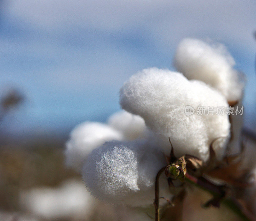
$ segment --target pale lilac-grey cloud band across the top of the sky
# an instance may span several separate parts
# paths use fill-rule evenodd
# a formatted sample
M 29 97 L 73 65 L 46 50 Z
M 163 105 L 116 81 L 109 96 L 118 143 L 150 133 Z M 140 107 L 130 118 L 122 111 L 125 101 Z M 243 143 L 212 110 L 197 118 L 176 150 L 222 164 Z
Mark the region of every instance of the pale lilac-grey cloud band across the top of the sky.
M 138 29 L 169 46 L 183 37 L 209 36 L 250 49 L 255 11 L 256 5 L 249 0 L 17 0 L 8 4 L 5 14 L 46 30 L 74 26 L 110 32 Z

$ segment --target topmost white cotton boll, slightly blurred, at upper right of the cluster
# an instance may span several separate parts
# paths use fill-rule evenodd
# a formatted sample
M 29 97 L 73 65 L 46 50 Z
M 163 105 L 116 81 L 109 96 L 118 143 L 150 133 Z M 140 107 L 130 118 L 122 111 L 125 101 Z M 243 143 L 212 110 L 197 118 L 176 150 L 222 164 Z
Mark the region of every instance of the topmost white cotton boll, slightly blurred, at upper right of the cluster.
M 190 38 L 180 42 L 174 57 L 177 71 L 188 79 L 201 80 L 218 89 L 228 101 L 243 96 L 244 80 L 234 65 L 233 57 L 223 45 Z

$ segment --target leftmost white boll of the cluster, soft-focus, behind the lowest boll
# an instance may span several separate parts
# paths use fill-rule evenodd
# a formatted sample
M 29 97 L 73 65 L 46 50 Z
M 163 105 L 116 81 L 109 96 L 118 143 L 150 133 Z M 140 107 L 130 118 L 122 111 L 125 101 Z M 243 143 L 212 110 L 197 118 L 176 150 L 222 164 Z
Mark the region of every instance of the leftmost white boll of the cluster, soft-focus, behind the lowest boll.
M 122 140 L 121 132 L 98 122 L 84 122 L 75 127 L 66 143 L 66 165 L 80 172 L 83 160 L 106 141 Z

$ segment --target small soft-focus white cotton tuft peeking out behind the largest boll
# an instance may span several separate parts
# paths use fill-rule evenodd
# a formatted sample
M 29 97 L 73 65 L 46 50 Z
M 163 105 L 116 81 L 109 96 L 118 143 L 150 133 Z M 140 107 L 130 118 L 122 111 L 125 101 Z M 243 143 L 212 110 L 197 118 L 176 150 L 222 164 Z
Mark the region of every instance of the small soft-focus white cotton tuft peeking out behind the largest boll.
M 111 115 L 108 118 L 108 125 L 122 132 L 125 140 L 146 138 L 148 135 L 144 119 L 125 110 Z

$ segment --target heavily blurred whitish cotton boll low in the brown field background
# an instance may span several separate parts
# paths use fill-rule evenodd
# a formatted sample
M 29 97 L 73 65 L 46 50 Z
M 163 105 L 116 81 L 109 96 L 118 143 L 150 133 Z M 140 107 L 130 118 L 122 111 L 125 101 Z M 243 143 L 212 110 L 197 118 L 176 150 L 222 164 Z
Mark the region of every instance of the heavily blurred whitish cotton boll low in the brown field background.
M 57 188 L 34 188 L 20 194 L 20 204 L 24 209 L 48 220 L 79 213 L 89 216 L 94 203 L 84 183 L 76 180 L 68 180 Z

